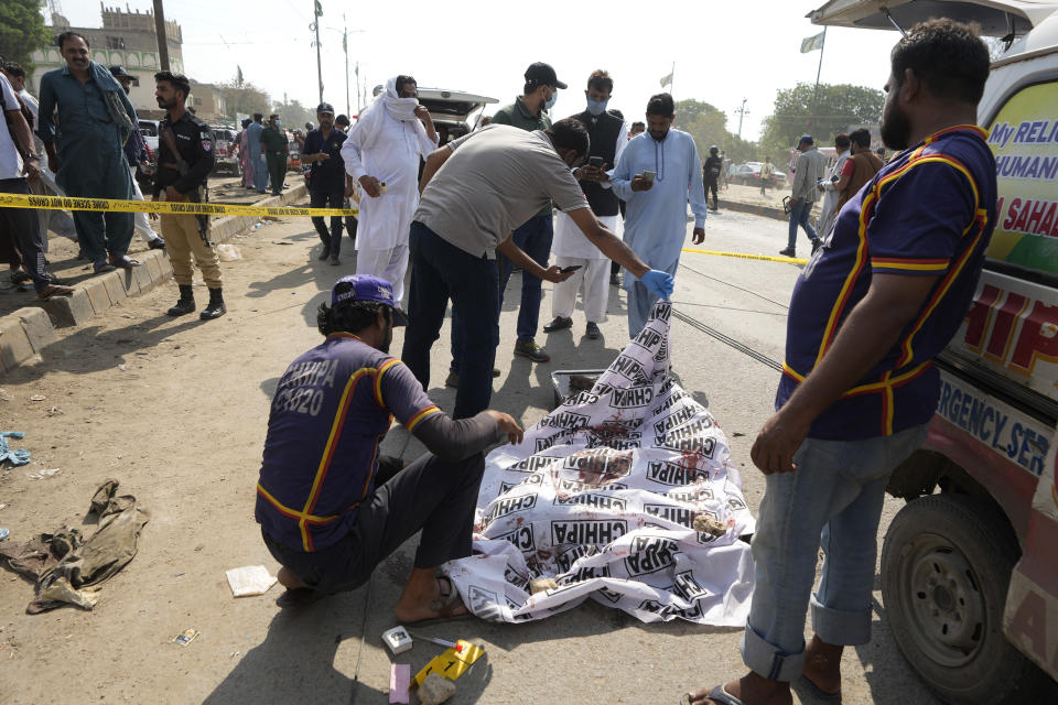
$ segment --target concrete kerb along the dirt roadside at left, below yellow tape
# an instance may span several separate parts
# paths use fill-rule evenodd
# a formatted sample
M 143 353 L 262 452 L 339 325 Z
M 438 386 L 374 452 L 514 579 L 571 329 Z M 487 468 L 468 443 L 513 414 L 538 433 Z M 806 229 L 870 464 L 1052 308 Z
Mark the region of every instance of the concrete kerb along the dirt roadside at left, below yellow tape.
M 282 196 L 263 198 L 255 206 L 284 206 L 302 200 L 304 184 Z M 256 216 L 228 216 L 213 221 L 210 240 L 226 242 L 253 227 Z M 110 272 L 77 285 L 73 296 L 55 297 L 34 306 L 24 306 L 0 318 L 0 371 L 13 370 L 58 339 L 56 328 L 80 326 L 129 296 L 147 293 L 173 275 L 173 265 L 162 250 L 137 254 L 141 265 L 132 271 Z

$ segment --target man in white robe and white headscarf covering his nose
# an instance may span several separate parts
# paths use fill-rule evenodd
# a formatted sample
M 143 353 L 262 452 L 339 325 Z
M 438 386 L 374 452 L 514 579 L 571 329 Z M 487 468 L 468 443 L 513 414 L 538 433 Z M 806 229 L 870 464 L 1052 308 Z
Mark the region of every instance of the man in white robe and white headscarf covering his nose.
M 438 132 L 411 76 L 397 76 L 360 116 L 342 145 L 348 174 L 364 187 L 356 237 L 356 273 L 393 285 L 404 297 L 408 232 L 419 205 L 419 161 L 438 148 Z

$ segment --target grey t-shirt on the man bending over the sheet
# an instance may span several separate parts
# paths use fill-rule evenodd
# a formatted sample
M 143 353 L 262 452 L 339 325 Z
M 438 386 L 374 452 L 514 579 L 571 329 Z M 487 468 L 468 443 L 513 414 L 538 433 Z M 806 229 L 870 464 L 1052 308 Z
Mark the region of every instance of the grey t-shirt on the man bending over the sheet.
M 427 185 L 414 219 L 474 257 L 496 246 L 553 200 L 587 208 L 584 192 L 542 131 L 489 124 L 447 144 L 452 156 Z

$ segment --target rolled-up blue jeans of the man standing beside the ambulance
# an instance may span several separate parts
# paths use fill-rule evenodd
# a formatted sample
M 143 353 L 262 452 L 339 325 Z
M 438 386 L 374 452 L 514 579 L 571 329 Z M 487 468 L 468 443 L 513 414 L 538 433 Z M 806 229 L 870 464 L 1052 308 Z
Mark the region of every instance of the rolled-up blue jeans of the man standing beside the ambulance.
M 893 470 L 926 440 L 926 426 L 866 441 L 807 438 L 797 470 L 768 475 L 753 536 L 756 587 L 742 638 L 754 672 L 796 681 L 805 668 L 805 611 L 831 644 L 871 640 L 878 521 Z M 819 549 L 822 579 L 816 582 Z

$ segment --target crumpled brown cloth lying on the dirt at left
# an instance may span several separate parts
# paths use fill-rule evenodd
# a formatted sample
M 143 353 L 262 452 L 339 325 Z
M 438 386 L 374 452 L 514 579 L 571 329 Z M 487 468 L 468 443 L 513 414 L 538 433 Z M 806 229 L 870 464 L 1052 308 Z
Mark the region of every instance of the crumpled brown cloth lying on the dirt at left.
M 65 604 L 91 609 L 96 598 L 84 588 L 109 579 L 136 556 L 149 517 L 132 495 L 115 497 L 117 489 L 118 480 L 108 479 L 93 495 L 89 513 L 99 516 L 99 527 L 87 540 L 80 530 L 64 525 L 22 544 L 0 545 L 9 568 L 36 581 L 36 597 L 25 611 L 35 615 Z

